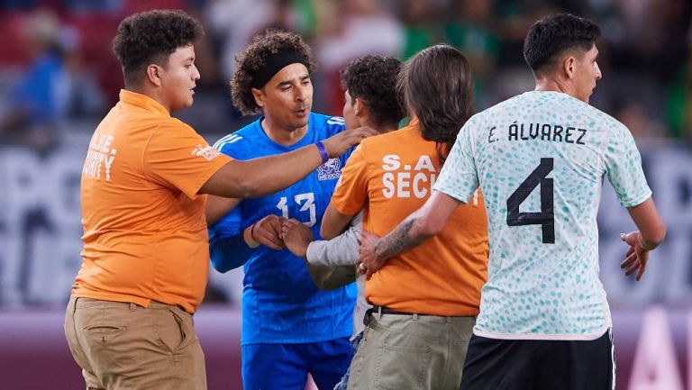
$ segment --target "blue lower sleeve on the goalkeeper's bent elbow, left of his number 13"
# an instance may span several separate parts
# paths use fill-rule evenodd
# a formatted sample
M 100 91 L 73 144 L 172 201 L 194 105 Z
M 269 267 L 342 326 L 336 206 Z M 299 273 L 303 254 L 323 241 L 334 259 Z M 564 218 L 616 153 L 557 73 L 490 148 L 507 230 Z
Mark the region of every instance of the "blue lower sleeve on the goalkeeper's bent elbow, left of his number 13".
M 241 267 L 250 259 L 254 249 L 242 238 L 243 230 L 240 205 L 209 228 L 209 256 L 217 271 Z

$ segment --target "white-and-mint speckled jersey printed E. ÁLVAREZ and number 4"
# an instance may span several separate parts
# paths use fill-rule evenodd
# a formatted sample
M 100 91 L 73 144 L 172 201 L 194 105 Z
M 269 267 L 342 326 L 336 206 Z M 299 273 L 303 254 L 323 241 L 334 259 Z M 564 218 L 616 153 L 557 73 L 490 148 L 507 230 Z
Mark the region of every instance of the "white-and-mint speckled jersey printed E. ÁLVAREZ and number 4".
M 632 134 L 569 95 L 527 92 L 474 115 L 434 189 L 480 186 L 490 258 L 475 333 L 594 340 L 611 326 L 596 213 L 607 177 L 624 207 L 651 196 Z

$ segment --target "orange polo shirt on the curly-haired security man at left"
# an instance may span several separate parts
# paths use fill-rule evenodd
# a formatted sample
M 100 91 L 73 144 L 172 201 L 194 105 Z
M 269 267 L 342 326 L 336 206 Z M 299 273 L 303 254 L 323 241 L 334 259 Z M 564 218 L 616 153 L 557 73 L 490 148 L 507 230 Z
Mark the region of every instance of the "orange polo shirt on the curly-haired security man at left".
M 72 294 L 195 313 L 209 264 L 209 177 L 230 159 L 146 95 L 120 92 L 81 178 L 84 250 Z

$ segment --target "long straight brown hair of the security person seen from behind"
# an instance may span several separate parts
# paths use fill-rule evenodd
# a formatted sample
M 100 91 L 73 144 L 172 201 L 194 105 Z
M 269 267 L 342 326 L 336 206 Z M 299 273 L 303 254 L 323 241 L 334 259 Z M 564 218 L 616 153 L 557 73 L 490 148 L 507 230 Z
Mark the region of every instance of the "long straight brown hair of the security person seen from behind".
M 420 122 L 424 140 L 437 142 L 441 162 L 461 127 L 473 115 L 473 80 L 469 60 L 450 45 L 423 49 L 399 73 L 406 108 Z

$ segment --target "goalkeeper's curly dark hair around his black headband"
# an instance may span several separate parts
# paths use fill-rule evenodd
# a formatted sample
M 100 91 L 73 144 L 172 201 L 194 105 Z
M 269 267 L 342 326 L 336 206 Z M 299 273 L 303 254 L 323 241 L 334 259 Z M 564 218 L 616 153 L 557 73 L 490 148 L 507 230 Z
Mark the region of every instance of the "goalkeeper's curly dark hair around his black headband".
M 254 38 L 245 50 L 235 57 L 238 68 L 231 78 L 231 97 L 233 105 L 244 115 L 261 113 L 261 107 L 252 95 L 252 81 L 259 68 L 264 67 L 270 55 L 279 50 L 291 50 L 302 54 L 308 73 L 314 71 L 312 51 L 300 35 L 269 29 Z

